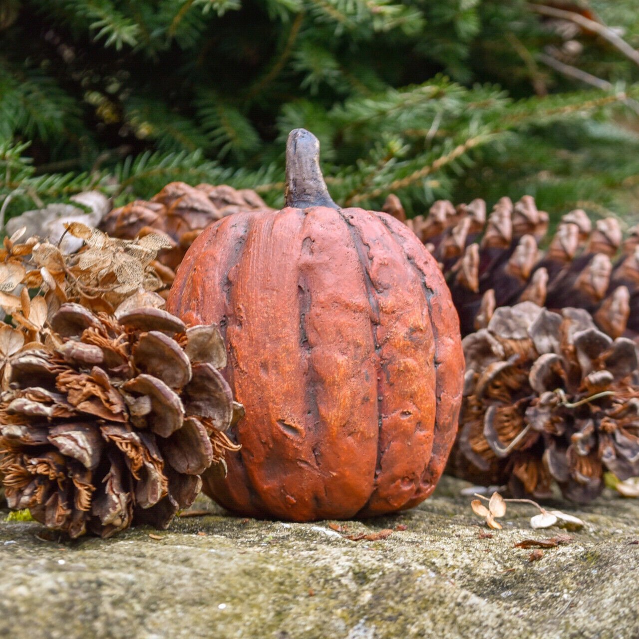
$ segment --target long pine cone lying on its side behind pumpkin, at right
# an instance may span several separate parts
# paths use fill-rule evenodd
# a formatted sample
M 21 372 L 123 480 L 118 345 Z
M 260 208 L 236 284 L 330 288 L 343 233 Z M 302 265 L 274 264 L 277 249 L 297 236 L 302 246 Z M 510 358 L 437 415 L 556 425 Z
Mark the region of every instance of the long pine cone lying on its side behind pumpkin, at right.
M 404 218 L 442 266 L 462 335 L 486 327 L 496 308 L 527 300 L 585 309 L 612 337 L 639 335 L 639 227 L 622 243 L 616 219 L 593 227 L 577 209 L 548 239 L 548 213 L 530 196 L 514 204 L 502 197 L 488 219 L 481 199 L 457 207 L 438 201 L 427 215 L 406 220 L 389 196 L 384 210 Z

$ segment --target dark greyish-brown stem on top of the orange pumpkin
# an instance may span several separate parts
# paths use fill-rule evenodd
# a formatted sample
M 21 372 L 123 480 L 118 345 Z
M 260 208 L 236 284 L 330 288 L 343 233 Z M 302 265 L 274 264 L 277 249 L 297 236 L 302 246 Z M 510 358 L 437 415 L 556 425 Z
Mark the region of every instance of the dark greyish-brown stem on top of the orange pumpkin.
M 295 128 L 286 141 L 286 206 L 339 208 L 328 194 L 319 168 L 319 140 L 305 128 Z

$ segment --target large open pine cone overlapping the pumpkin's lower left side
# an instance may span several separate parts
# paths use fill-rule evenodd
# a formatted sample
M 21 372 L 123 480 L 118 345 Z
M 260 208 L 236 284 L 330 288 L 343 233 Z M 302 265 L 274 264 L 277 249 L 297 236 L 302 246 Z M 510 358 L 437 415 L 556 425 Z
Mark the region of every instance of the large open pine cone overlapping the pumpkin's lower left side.
M 235 448 L 223 432 L 234 403 L 217 328 L 150 307 L 116 319 L 79 304 L 63 304 L 50 327 L 46 346 L 8 362 L 8 504 L 70 537 L 166 528 L 196 498 L 199 475 Z

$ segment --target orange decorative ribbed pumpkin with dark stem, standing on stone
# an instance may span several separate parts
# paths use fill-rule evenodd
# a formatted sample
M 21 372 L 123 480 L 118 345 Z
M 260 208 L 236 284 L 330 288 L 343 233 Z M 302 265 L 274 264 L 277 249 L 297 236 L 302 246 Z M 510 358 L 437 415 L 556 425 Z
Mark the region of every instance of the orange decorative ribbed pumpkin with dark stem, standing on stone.
M 204 492 L 254 517 L 309 521 L 410 508 L 457 431 L 464 358 L 435 260 L 386 213 L 341 209 L 319 142 L 286 145 L 286 206 L 234 213 L 187 251 L 167 308 L 215 322 L 245 417 L 226 481 Z

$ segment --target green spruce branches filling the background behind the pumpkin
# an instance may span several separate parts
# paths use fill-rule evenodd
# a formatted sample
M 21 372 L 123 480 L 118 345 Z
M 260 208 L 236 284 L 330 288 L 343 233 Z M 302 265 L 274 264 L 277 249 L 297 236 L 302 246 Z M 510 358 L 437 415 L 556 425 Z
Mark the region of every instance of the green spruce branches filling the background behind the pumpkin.
M 592 1 L 639 47 L 635 0 Z M 579 11 L 579 0 L 543 6 Z M 282 201 L 291 128 L 335 201 L 639 212 L 639 66 L 519 0 L 0 0 L 0 205 L 184 180 Z M 563 34 L 563 35 L 562 35 Z M 548 54 L 604 81 L 594 88 Z

